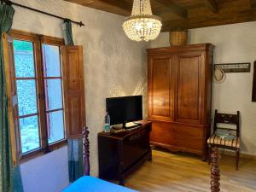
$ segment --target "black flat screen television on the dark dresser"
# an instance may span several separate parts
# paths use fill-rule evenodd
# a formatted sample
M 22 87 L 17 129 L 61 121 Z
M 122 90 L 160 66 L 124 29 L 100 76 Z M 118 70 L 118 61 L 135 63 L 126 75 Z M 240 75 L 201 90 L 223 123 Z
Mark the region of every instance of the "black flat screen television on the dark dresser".
M 106 98 L 110 125 L 123 124 L 143 119 L 143 96 Z

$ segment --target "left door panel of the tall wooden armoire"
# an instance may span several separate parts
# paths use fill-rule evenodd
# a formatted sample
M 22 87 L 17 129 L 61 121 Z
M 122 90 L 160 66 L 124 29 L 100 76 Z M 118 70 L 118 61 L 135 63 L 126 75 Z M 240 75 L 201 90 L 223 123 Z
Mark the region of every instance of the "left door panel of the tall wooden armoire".
M 172 55 L 152 58 L 149 69 L 149 117 L 173 119 L 172 113 Z

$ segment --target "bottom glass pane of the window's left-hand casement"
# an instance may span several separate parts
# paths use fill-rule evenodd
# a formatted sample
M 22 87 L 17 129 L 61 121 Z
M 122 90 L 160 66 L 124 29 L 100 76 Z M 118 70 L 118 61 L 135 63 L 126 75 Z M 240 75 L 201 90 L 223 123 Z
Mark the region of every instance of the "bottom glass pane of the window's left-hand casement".
M 22 154 L 40 147 L 38 116 L 20 119 Z

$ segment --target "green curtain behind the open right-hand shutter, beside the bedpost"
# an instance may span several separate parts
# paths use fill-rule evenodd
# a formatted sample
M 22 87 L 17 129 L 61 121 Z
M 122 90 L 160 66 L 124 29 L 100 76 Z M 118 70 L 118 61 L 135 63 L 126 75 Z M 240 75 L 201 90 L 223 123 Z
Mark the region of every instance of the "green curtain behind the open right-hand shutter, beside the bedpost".
M 72 24 L 70 20 L 64 20 L 64 39 L 66 45 L 73 44 Z M 74 182 L 83 176 L 83 142 L 82 139 L 68 139 L 68 173 L 69 181 Z

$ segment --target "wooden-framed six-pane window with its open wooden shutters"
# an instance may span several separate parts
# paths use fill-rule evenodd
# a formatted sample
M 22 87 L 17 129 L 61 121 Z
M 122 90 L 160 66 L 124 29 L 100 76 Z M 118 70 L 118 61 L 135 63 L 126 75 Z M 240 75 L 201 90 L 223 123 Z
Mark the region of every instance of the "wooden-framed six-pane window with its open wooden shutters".
M 85 126 L 83 47 L 12 30 L 3 61 L 14 165 L 82 137 Z

